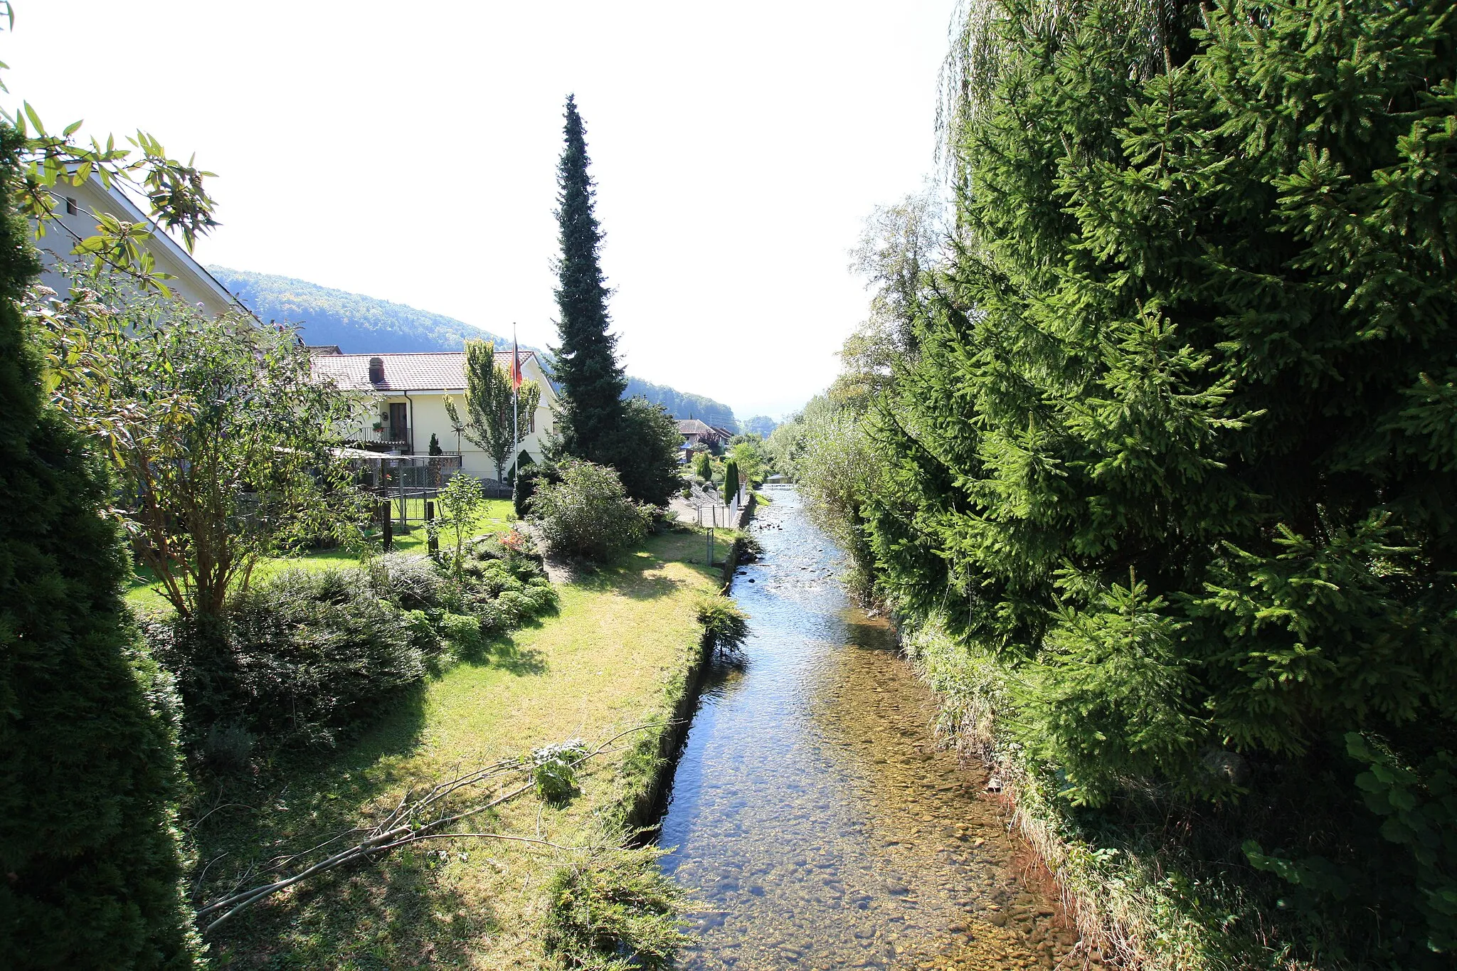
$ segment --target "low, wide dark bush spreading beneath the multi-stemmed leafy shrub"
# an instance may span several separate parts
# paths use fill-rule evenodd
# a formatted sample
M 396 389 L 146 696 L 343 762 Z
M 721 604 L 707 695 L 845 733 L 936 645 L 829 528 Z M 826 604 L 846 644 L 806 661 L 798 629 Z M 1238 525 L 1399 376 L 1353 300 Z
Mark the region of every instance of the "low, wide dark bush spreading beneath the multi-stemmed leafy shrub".
M 278 574 L 224 620 L 172 619 L 149 636 L 178 674 L 194 744 L 233 724 L 275 744 L 332 744 L 441 654 L 424 611 L 382 598 L 372 572 L 348 568 Z

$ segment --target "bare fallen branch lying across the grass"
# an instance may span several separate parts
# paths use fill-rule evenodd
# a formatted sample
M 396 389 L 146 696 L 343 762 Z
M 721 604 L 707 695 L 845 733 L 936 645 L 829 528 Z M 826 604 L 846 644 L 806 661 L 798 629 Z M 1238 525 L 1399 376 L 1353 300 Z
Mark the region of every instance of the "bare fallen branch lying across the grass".
M 653 722 L 647 725 L 635 725 L 627 731 L 618 732 L 616 735 L 608 738 L 594 748 L 583 747 L 581 756 L 573 758 L 571 761 L 565 761 L 564 764 L 568 766 L 571 770 L 576 770 L 578 766 L 589 761 L 590 758 L 594 758 L 602 754 L 621 751 L 621 748 L 613 747 L 613 742 L 616 742 L 619 738 L 631 735 L 632 732 L 645 731 L 648 728 L 663 728 L 666 724 L 667 722 Z M 565 745 L 549 745 L 538 751 L 561 753 L 567 751 L 570 747 L 571 742 Z M 401 795 L 399 802 L 395 805 L 395 809 L 374 825 L 370 827 L 357 825 L 344 830 L 342 833 L 337 833 L 329 839 L 323 840 L 322 843 L 316 843 L 307 850 L 303 850 L 302 853 L 293 853 L 290 856 L 275 860 L 268 868 L 268 871 L 270 872 L 283 871 L 290 865 L 296 863 L 297 860 L 305 859 L 322 850 L 325 846 L 338 843 L 339 840 L 363 833 L 364 839 L 358 840 L 353 846 L 339 850 L 316 863 L 312 863 L 299 871 L 297 873 L 281 876 L 278 879 L 270 881 L 267 884 L 259 884 L 243 891 L 237 891 L 235 885 L 233 892 L 229 892 L 220 900 L 214 900 L 213 903 L 200 908 L 197 911 L 197 916 L 200 919 L 207 917 L 210 914 L 219 914 L 219 913 L 221 914 L 210 920 L 207 926 L 203 929 L 203 932 L 210 933 L 216 930 L 219 924 L 229 920 L 230 917 L 237 916 L 243 910 L 248 910 L 258 901 L 267 900 L 268 897 L 272 897 L 274 894 L 287 889 L 290 887 L 294 887 L 296 884 L 300 884 L 309 878 L 326 873 L 341 866 L 348 866 L 351 863 L 358 863 L 361 860 L 373 859 L 382 853 L 388 853 L 389 850 L 399 849 L 401 846 L 409 846 L 411 843 L 420 843 L 424 840 L 450 840 L 450 839 L 504 840 L 513 843 L 546 846 L 557 850 L 594 849 L 592 846 L 559 846 L 548 840 L 527 837 L 527 836 L 514 836 L 507 833 L 449 831 L 447 827 L 453 824 L 463 823 L 471 817 L 479 815 L 488 809 L 494 809 L 495 806 L 510 802 L 511 799 L 526 795 L 527 792 L 535 789 L 538 785 L 535 770 L 538 769 L 541 761 L 542 760 L 538 757 L 538 753 L 533 753 L 532 756 L 526 756 L 523 758 L 506 758 L 484 769 L 475 769 L 472 772 L 459 774 L 447 782 L 441 782 L 431 786 L 428 790 L 424 792 L 424 795 L 417 796 L 414 789 L 407 789 L 404 795 Z M 452 811 L 449 808 L 450 796 L 453 796 L 457 792 L 481 786 L 487 782 L 497 780 L 501 777 L 513 777 L 522 774 L 526 776 L 526 782 L 498 795 L 492 795 L 490 799 L 485 799 L 484 802 L 468 805 L 466 808 L 459 811 Z

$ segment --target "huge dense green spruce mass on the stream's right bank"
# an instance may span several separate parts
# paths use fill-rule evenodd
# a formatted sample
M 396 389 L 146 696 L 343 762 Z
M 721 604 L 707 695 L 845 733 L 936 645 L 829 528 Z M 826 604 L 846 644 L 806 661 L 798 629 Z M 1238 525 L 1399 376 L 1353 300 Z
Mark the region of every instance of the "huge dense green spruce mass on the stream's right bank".
M 874 419 L 881 591 L 1011 670 L 1010 726 L 1062 798 L 1289 801 L 1284 872 L 1342 873 L 1330 924 L 1440 962 L 1451 6 L 979 9 L 957 265 Z

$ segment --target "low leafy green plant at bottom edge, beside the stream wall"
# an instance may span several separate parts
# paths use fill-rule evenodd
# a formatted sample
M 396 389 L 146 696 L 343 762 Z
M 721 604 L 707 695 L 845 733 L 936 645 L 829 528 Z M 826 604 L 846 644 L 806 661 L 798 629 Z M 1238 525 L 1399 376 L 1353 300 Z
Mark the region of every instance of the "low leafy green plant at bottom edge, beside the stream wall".
M 682 932 L 682 891 L 657 847 L 599 850 L 558 869 L 546 885 L 542 943 L 568 968 L 667 971 Z

